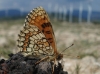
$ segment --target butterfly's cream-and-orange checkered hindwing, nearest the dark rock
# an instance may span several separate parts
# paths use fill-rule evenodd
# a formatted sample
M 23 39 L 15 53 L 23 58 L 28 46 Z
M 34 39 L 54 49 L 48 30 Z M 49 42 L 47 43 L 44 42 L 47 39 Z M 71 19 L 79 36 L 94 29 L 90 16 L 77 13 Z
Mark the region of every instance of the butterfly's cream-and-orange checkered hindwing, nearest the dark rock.
M 18 39 L 20 51 L 32 53 L 32 55 L 53 54 L 53 49 L 45 35 L 34 25 L 25 24 Z

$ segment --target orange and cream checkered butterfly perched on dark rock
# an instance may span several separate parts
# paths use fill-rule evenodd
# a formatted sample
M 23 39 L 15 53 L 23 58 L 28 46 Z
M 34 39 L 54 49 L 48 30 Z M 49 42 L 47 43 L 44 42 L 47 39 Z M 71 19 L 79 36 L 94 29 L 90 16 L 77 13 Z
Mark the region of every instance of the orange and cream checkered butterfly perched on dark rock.
M 60 60 L 63 55 L 57 52 L 55 36 L 46 11 L 42 7 L 33 9 L 26 17 L 20 31 L 18 48 L 25 56 Z M 42 57 L 43 55 L 43 57 Z

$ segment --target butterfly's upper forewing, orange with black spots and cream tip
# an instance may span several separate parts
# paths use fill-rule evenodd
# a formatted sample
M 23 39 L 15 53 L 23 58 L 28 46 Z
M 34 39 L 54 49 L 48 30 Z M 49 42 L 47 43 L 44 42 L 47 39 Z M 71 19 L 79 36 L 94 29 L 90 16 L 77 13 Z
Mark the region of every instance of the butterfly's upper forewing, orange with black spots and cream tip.
M 35 25 L 39 28 L 39 30 L 41 30 L 56 54 L 57 48 L 54 32 L 46 11 L 42 7 L 37 7 L 33 9 L 26 17 L 26 23 L 29 23 L 30 25 Z

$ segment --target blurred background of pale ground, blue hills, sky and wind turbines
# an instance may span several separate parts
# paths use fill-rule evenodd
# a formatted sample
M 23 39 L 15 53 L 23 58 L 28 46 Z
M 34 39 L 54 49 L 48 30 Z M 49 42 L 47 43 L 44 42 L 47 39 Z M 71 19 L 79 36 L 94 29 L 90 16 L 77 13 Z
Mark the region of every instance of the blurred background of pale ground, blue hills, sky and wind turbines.
M 18 33 L 37 6 L 48 13 L 69 74 L 100 74 L 100 0 L 0 0 L 0 58 L 18 52 Z M 59 37 L 60 36 L 60 37 Z

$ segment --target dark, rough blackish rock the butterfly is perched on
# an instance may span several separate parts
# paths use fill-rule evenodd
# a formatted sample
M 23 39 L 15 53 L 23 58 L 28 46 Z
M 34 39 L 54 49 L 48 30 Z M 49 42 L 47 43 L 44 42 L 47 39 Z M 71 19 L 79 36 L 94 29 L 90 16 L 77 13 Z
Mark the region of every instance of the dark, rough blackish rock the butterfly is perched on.
M 42 61 L 35 64 L 40 59 L 24 57 L 20 53 L 10 54 L 8 60 L 0 60 L 0 74 L 52 74 L 53 62 Z M 54 67 L 53 74 L 68 74 L 63 71 L 62 65 Z

